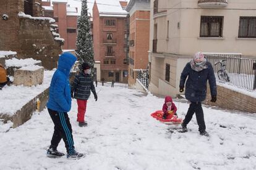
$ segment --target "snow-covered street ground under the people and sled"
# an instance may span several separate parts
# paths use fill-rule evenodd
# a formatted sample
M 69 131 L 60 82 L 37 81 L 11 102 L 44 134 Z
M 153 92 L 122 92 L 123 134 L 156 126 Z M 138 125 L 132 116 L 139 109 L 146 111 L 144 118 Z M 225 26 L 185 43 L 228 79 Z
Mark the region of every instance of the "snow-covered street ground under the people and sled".
M 93 95 L 88 100 L 88 127 L 76 122 L 75 100 L 69 112 L 75 148 L 84 158 L 46 157 L 53 123 L 44 110 L 8 132 L 0 125 L 0 169 L 256 169 L 255 115 L 203 107 L 210 137 L 199 135 L 195 116 L 190 131 L 179 133 L 179 126 L 150 116 L 164 99 L 105 85 L 96 87 L 97 102 Z M 184 118 L 189 104 L 175 103 Z M 65 152 L 64 142 L 58 150 Z

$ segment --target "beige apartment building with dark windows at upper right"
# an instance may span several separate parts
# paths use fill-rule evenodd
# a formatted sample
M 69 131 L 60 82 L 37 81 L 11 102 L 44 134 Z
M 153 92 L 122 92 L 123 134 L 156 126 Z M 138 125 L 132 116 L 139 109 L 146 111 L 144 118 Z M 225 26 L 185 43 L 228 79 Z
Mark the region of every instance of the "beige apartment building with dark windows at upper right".
M 181 72 L 197 51 L 256 57 L 256 1 L 150 2 L 149 90 L 176 96 Z

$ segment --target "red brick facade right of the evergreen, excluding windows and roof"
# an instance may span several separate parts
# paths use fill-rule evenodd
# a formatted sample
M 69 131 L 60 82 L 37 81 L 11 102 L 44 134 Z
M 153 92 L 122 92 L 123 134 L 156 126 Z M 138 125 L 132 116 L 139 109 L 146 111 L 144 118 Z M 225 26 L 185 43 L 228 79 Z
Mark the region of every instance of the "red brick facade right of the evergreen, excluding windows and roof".
M 115 26 L 105 26 L 105 19 L 116 20 Z M 105 78 L 106 81 L 111 81 L 112 77 L 108 77 L 108 72 L 113 71 L 114 75 L 116 72 L 119 73 L 119 80 L 122 80 L 122 70 L 127 70 L 127 65 L 124 65 L 124 59 L 126 59 L 126 54 L 124 52 L 124 20 L 127 18 L 107 18 L 99 17 L 98 9 L 96 5 L 93 6 L 93 47 L 95 53 L 95 60 L 101 62 L 101 78 Z M 106 39 L 106 33 L 112 33 L 113 39 L 116 39 L 116 44 L 106 45 L 103 44 L 103 39 Z M 104 59 L 107 46 L 113 47 L 114 57 L 111 59 L 116 59 L 115 65 L 105 65 Z M 124 79 L 123 79 L 124 82 Z

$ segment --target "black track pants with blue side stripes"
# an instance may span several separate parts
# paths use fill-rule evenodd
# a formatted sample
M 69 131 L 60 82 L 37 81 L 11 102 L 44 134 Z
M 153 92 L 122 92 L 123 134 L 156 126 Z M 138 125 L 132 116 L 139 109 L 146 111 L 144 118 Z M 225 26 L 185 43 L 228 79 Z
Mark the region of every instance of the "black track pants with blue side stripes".
M 54 123 L 53 138 L 51 139 L 50 148 L 56 149 L 61 142 L 61 139 L 65 142 L 67 153 L 74 152 L 74 140 L 72 136 L 72 127 L 69 122 L 69 116 L 67 112 L 54 111 L 48 108 L 49 115 Z

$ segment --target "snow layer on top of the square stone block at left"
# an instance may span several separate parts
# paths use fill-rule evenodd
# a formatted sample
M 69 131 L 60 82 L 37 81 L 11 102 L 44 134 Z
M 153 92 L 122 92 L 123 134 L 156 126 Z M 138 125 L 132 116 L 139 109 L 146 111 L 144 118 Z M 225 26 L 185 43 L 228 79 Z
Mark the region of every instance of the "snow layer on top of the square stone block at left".
M 35 65 L 36 63 L 41 63 L 40 60 L 29 59 L 9 59 L 6 60 L 6 67 L 26 67 L 28 65 Z

